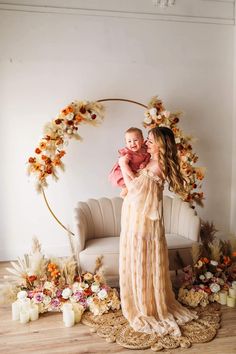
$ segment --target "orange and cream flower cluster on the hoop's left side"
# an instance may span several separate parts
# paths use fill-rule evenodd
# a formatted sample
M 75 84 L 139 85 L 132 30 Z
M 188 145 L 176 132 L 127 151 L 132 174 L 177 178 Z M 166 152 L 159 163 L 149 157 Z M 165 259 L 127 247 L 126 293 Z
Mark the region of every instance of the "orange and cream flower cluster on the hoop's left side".
M 69 139 L 81 140 L 79 125 L 96 125 L 103 117 L 104 107 L 101 103 L 74 101 L 45 126 L 44 136 L 35 148 L 35 155 L 28 159 L 28 173 L 36 176 L 38 191 L 48 185 L 48 176 L 57 180 L 57 169 L 64 170 L 61 159 L 66 154 L 65 147 Z

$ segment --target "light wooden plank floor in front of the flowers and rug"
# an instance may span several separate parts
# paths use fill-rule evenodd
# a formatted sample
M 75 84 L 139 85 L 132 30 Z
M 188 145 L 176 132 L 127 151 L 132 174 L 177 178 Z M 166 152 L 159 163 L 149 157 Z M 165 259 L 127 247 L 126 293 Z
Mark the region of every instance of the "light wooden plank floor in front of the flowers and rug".
M 0 281 L 6 274 L 6 262 L 0 263 Z M 194 344 L 188 349 L 175 349 L 165 353 L 184 354 L 236 354 L 236 308 L 222 307 L 221 328 L 216 338 L 205 344 Z M 35 322 L 22 325 L 11 320 L 11 306 L 0 306 L 0 353 L 63 353 L 63 354 L 106 354 L 106 353 L 138 353 L 153 354 L 151 349 L 129 350 L 116 343 L 107 343 L 89 327 L 77 324 L 65 328 L 60 313 L 40 315 Z

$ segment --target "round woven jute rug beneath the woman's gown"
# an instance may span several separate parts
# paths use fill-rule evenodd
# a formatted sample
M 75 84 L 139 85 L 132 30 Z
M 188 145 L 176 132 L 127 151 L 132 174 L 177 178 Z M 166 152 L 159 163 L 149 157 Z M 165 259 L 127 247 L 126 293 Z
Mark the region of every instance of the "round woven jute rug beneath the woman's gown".
M 194 309 L 199 318 L 186 323 L 181 328 L 181 337 L 166 335 L 160 337 L 156 334 L 135 332 L 122 315 L 121 310 L 110 312 L 102 316 L 94 316 L 91 312 L 85 312 L 82 323 L 92 327 L 91 331 L 106 339 L 107 342 L 116 342 L 129 349 L 148 349 L 161 351 L 163 349 L 175 349 L 178 347 L 189 348 L 194 343 L 211 341 L 220 327 L 220 305 L 210 304 L 206 307 Z

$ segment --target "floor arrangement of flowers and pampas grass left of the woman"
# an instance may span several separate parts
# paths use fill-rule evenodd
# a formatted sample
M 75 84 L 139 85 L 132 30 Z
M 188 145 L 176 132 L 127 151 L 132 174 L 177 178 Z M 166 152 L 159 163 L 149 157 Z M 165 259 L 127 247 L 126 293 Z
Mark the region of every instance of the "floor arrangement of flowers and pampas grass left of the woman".
M 11 275 L 4 278 L 10 284 L 2 288 L 3 302 L 29 302 L 39 313 L 63 311 L 69 303 L 81 314 L 88 310 L 102 315 L 119 310 L 120 300 L 116 289 L 109 287 L 103 277 L 101 262 L 94 274 L 79 273 L 72 258 L 45 258 L 37 239 L 33 240 L 32 253 L 6 268 Z

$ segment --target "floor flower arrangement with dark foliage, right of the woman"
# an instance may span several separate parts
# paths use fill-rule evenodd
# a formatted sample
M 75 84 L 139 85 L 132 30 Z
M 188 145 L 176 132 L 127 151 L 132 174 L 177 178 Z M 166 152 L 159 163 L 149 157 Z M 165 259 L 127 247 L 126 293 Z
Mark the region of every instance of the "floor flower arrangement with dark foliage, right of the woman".
M 208 256 L 202 256 L 206 251 Z M 236 252 L 233 250 L 233 243 L 212 240 L 207 248 L 200 244 L 195 245 L 192 254 L 200 257 L 193 266 L 183 269 L 184 279 L 179 289 L 179 301 L 192 307 L 219 301 L 220 292 L 227 292 L 236 280 Z

